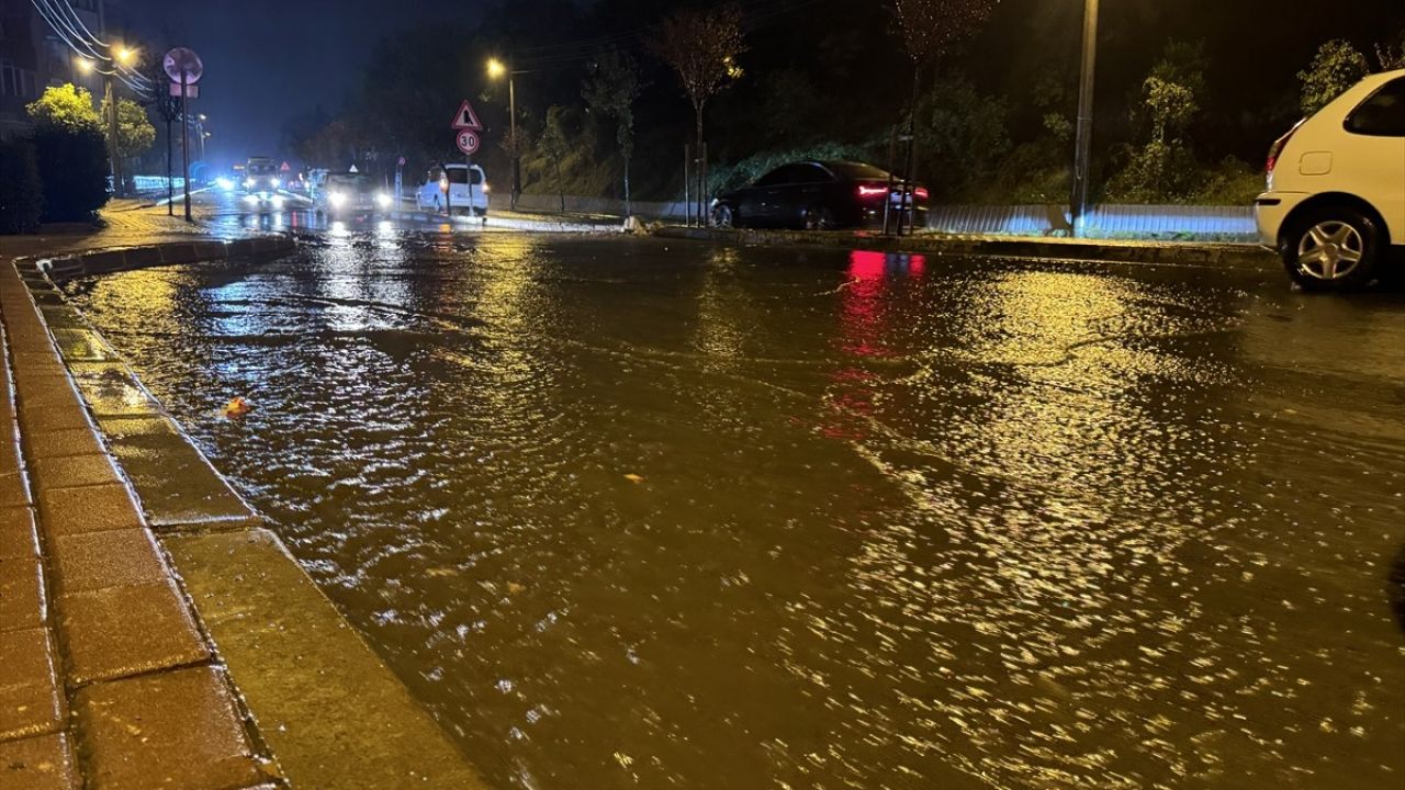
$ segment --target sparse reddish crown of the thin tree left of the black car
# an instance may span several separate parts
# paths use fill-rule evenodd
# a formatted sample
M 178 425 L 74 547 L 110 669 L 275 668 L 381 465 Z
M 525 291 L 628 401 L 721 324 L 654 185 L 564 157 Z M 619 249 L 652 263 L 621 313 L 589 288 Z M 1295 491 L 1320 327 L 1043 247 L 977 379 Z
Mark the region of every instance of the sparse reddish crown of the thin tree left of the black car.
M 736 56 L 746 49 L 742 10 L 728 3 L 705 11 L 691 8 L 676 11 L 663 20 L 652 49 L 660 60 L 677 72 L 683 93 L 693 103 L 693 112 L 697 114 L 698 152 L 701 152 L 702 108 L 708 98 L 742 76 L 742 69 L 736 65 Z M 702 174 L 702 179 L 705 177 Z

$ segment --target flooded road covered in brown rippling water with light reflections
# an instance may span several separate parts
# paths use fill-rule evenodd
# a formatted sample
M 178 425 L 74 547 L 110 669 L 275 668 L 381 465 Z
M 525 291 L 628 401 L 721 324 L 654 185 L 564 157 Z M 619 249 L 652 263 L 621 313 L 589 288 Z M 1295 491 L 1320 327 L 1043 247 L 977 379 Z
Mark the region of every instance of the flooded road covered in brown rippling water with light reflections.
M 1405 783 L 1399 294 L 396 232 L 69 291 L 500 787 Z

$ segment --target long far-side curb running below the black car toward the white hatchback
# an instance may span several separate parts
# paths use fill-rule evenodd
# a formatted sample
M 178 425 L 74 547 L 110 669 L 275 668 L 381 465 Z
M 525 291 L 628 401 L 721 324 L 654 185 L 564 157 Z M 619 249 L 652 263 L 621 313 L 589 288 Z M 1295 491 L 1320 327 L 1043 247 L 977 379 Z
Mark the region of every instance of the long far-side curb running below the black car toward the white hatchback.
M 878 252 L 929 253 L 969 257 L 1013 257 L 1107 263 L 1277 268 L 1279 259 L 1253 245 L 1176 242 L 1085 242 L 1052 239 L 996 239 L 961 236 L 864 236 L 846 232 L 754 231 L 665 226 L 652 232 L 663 239 L 721 242 L 739 246 L 808 246 Z

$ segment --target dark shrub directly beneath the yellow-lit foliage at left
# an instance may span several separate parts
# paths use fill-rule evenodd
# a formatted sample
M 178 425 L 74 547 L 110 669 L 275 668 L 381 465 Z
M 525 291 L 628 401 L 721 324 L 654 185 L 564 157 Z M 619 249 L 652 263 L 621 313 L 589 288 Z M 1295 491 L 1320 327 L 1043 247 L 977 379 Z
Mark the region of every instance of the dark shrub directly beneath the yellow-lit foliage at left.
M 45 222 L 86 222 L 107 202 L 107 145 L 93 127 L 41 125 L 34 150 Z

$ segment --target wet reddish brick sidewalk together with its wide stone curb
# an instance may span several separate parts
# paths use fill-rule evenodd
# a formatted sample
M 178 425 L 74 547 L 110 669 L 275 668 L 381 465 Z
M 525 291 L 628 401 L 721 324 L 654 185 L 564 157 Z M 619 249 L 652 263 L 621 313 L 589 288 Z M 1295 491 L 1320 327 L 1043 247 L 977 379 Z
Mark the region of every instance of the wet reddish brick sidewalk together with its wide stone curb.
M 0 787 L 483 787 L 55 287 L 218 245 L 0 261 Z

